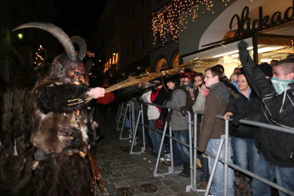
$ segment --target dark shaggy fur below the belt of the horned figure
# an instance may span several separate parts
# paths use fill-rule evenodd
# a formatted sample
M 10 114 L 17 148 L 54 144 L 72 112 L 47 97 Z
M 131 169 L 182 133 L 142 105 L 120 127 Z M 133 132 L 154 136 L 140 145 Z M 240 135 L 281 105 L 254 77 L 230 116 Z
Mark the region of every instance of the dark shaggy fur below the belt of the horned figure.
M 62 152 L 39 162 L 35 171 L 36 195 L 92 195 L 89 160 L 78 153 Z

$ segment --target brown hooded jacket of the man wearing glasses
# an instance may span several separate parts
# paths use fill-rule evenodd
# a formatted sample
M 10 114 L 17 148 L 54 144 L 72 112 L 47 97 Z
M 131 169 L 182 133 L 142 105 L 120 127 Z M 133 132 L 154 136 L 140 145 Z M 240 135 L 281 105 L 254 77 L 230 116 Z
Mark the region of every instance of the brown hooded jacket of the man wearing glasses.
M 216 118 L 216 115 L 224 114 L 229 100 L 229 90 L 222 82 L 211 85 L 209 89 L 198 142 L 198 150 L 201 152 L 206 150 L 209 139 L 219 139 L 224 134 L 224 120 Z

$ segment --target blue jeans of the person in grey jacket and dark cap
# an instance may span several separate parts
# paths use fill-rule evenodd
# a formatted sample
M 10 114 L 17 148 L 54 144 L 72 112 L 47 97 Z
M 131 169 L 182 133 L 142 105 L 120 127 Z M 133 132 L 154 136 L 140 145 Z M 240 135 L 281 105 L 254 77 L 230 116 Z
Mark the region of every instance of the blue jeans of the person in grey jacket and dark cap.
M 189 131 L 188 129 L 184 129 L 184 130 L 173 130 L 172 131 L 173 135 L 175 138 L 177 138 L 178 140 L 189 144 Z M 183 162 L 190 162 L 190 153 L 189 153 L 189 148 L 176 142 L 176 146 L 178 148 L 178 150 L 180 151 L 180 155 L 181 155 L 181 160 Z

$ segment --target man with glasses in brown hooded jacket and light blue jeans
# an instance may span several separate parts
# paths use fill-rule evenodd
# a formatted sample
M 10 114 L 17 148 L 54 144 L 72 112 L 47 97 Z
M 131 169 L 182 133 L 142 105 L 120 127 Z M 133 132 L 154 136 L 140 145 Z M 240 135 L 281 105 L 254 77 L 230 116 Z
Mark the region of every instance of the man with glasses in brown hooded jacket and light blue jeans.
M 210 89 L 205 99 L 204 114 L 199 135 L 198 150 L 207 151 L 216 154 L 220 144 L 220 135 L 224 134 L 224 120 L 216 118 L 216 115 L 223 115 L 229 100 L 228 88 L 220 82 L 222 72 L 217 67 L 210 67 L 205 70 L 205 86 Z M 230 138 L 228 139 L 230 146 Z M 221 149 L 220 158 L 224 158 L 224 144 Z M 228 161 L 230 159 L 230 150 L 228 150 Z M 208 156 L 208 169 L 212 170 L 214 158 Z M 224 165 L 217 163 L 216 170 L 212 179 L 210 194 L 214 196 L 223 195 L 223 173 Z M 234 195 L 233 188 L 234 173 L 228 168 L 227 174 L 227 195 Z

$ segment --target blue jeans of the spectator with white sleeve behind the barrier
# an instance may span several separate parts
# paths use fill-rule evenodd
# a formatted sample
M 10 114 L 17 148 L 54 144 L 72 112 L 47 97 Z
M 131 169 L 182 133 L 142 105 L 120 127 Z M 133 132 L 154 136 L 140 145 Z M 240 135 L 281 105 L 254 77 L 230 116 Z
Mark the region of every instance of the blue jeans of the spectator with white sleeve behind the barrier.
M 156 119 L 149 120 L 149 126 L 150 127 L 154 128 L 155 120 Z M 163 131 L 163 130 L 160 130 L 160 129 L 157 129 L 157 128 L 155 128 L 155 129 L 160 131 L 160 132 Z M 151 130 L 151 129 L 149 129 L 148 132 L 149 132 L 149 136 L 151 138 L 152 144 L 153 144 L 152 151 L 155 152 L 155 153 L 158 153 L 160 143 L 161 143 L 162 134 L 160 134 L 158 132 L 155 132 L 154 130 Z M 162 148 L 161 148 L 161 153 L 160 153 L 161 155 L 164 155 L 164 148 L 165 148 L 165 145 L 163 143 Z

